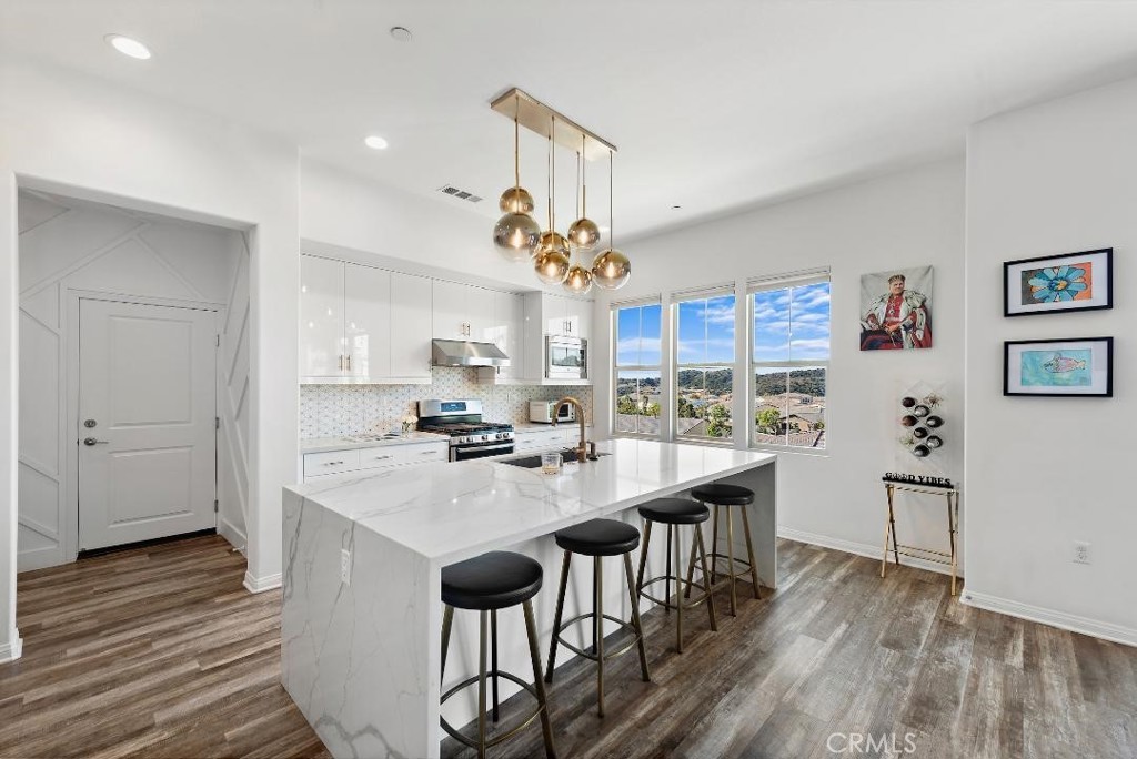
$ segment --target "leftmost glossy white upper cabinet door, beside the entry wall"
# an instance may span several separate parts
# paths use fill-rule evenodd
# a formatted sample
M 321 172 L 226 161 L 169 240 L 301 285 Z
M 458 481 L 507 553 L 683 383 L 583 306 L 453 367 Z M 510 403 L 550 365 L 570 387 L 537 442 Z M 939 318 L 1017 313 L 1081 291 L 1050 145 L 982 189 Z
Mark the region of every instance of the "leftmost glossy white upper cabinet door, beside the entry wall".
M 300 257 L 300 376 L 345 375 L 343 262 Z

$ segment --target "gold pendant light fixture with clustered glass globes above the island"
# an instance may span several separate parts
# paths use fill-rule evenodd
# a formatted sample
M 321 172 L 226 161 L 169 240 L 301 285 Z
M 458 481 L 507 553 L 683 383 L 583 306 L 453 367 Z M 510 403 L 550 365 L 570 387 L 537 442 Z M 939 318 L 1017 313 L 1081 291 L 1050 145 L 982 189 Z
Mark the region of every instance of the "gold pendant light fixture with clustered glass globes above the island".
M 616 290 L 628 283 L 631 264 L 628 257 L 616 250 L 608 235 L 609 245 L 596 256 L 591 264 L 574 261 L 596 249 L 600 241 L 600 230 L 588 218 L 588 160 L 604 157 L 608 152 L 608 217 L 612 218 L 612 166 L 615 145 L 595 133 L 575 124 L 545 103 L 516 87 L 501 94 L 490 103 L 490 108 L 514 123 L 514 186 L 501 194 L 498 203 L 505 212 L 493 230 L 493 243 L 498 251 L 511 261 L 532 257 L 533 270 L 546 285 L 563 285 L 568 292 L 583 295 L 595 283 L 605 290 Z M 521 187 L 521 170 L 517 151 L 518 125 L 532 130 L 549 140 L 548 185 L 549 226 L 543 232 L 529 214 L 533 199 Z M 576 152 L 576 220 L 568 227 L 567 235 L 556 231 L 556 159 L 554 143 Z M 611 224 L 611 220 L 609 220 Z

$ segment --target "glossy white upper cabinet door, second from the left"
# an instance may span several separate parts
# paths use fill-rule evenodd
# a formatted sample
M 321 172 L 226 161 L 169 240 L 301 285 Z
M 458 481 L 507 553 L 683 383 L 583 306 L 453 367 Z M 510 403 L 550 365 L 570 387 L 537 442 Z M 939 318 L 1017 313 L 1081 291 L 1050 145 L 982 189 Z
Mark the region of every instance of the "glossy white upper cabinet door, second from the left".
M 366 380 L 391 374 L 391 274 L 346 264 L 343 270 L 346 373 Z

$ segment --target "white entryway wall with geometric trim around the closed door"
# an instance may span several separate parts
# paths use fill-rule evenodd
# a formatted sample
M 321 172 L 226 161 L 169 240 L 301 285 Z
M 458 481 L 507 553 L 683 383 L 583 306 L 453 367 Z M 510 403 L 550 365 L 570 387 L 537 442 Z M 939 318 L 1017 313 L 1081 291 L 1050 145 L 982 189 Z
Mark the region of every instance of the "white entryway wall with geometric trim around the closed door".
M 18 569 L 70 561 L 77 550 L 75 490 L 76 422 L 67 414 L 67 366 L 77 356 L 68 324 L 77 291 L 163 302 L 208 303 L 217 327 L 234 290 L 238 264 L 247 258 L 233 230 L 173 222 L 102 203 L 24 191 L 19 193 L 19 550 Z M 247 267 L 246 267 L 247 268 Z M 248 303 L 248 280 L 241 302 Z M 242 312 L 243 318 L 243 312 Z M 248 356 L 219 361 L 218 370 L 248 375 Z M 221 382 L 221 385 L 227 383 Z M 224 403 L 218 403 L 223 407 Z M 226 434 L 229 428 L 226 428 Z M 218 457 L 222 482 L 244 482 L 232 470 L 244 451 Z M 244 487 L 246 490 L 241 490 Z M 247 483 L 222 493 L 219 519 L 231 540 L 244 544 L 242 503 Z M 226 529 L 222 531 L 223 534 Z M 235 533 L 235 534 L 234 534 Z

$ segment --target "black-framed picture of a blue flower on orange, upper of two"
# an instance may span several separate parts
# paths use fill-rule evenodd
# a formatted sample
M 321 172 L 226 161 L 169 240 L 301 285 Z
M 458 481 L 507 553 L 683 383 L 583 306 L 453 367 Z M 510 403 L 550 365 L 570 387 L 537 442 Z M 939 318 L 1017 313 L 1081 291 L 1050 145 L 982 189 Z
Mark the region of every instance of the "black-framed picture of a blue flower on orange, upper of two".
M 1003 264 L 1003 316 L 1113 308 L 1113 249 Z

